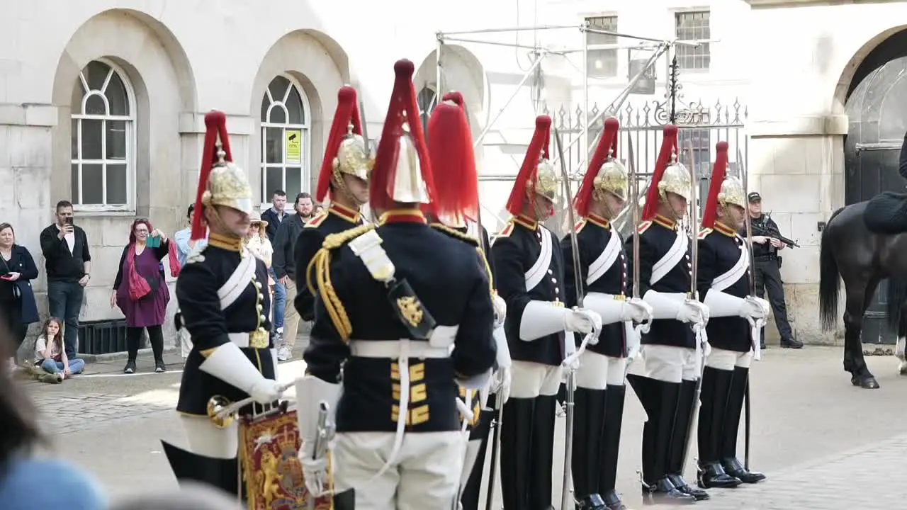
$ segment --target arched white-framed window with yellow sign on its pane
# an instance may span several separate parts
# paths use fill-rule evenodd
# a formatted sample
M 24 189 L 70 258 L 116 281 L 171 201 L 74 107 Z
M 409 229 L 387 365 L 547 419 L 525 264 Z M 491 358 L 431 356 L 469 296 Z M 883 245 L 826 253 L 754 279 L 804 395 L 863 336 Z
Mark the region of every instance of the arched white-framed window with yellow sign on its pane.
M 276 76 L 261 99 L 261 201 L 275 190 L 293 201 L 309 188 L 308 98 L 295 81 Z

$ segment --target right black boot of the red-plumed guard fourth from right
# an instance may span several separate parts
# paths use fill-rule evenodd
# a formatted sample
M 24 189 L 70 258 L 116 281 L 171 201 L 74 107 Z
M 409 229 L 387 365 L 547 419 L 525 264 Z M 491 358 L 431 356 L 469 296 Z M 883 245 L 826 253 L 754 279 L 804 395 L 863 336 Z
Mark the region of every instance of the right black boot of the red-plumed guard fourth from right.
M 532 412 L 532 459 L 529 476 L 529 499 L 522 510 L 551 508 L 551 466 L 554 465 L 554 395 L 535 397 Z M 573 407 L 576 409 L 576 407 Z

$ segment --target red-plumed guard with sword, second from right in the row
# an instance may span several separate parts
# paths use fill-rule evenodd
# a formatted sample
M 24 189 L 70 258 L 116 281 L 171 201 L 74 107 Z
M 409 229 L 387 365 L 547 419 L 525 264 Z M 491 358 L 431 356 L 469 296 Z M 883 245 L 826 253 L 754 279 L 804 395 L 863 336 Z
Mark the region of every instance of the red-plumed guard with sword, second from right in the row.
M 708 309 L 690 299 L 691 244 L 678 221 L 692 191 L 688 170 L 677 162 L 677 136 L 677 126 L 665 126 L 639 225 L 639 295 L 652 307 L 653 320 L 642 335 L 642 360 L 629 371 L 648 417 L 642 430 L 643 494 L 673 505 L 708 498 L 683 478 L 700 367 L 694 328 L 705 326 Z M 634 237 L 627 241 L 628 252 Z M 632 261 L 629 265 L 632 271 Z

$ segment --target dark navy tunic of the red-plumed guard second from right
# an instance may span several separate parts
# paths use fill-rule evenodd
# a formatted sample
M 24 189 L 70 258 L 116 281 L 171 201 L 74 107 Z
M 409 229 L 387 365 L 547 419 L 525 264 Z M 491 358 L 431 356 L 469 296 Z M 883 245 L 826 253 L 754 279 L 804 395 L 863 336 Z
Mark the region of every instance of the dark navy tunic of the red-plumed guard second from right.
M 644 298 L 649 289 L 664 293 L 690 293 L 690 279 L 692 278 L 692 263 L 690 262 L 690 242 L 687 243 L 687 253 L 680 258 L 677 265 L 668 271 L 661 280 L 654 285 L 649 282 L 652 278 L 652 268 L 661 260 L 677 239 L 677 223 L 664 216 L 656 216 L 653 221 L 646 221 L 639 225 L 639 297 Z M 626 243 L 628 253 L 633 252 L 633 239 L 630 236 Z M 629 260 L 628 272 L 633 274 L 633 260 Z M 631 284 L 632 285 L 632 284 Z M 696 336 L 689 324 L 676 319 L 656 319 L 652 321 L 649 333 L 644 333 L 642 344 L 654 344 L 681 348 L 696 348 Z

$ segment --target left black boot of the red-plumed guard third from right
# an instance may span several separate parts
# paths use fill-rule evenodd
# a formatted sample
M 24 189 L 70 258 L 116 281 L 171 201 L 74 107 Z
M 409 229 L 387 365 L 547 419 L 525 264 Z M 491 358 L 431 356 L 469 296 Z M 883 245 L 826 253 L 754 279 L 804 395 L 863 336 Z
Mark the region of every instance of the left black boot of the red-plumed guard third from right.
M 578 387 L 573 392 L 573 452 L 571 474 L 577 510 L 605 510 L 599 495 L 601 431 L 604 427 L 606 392 Z M 569 510 L 569 509 L 568 509 Z

